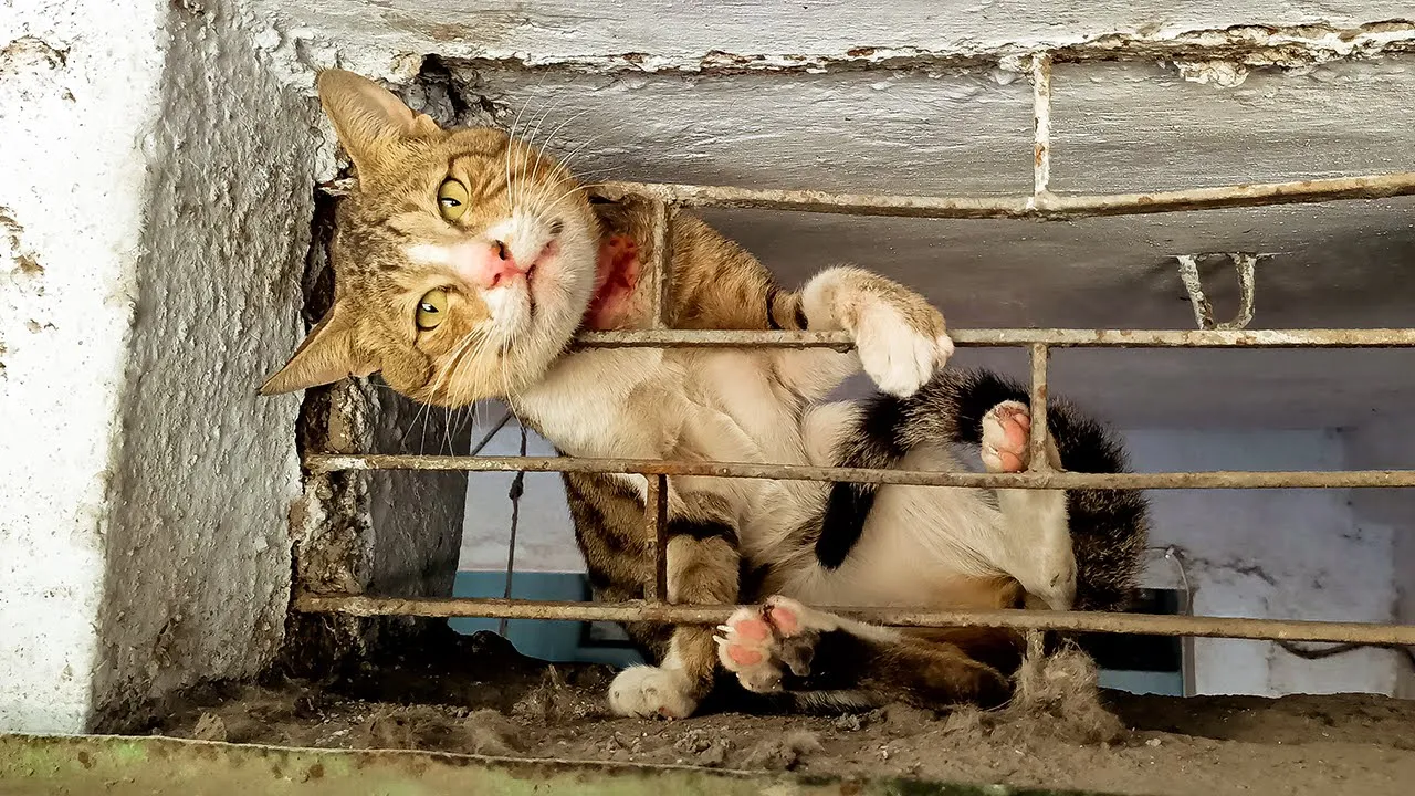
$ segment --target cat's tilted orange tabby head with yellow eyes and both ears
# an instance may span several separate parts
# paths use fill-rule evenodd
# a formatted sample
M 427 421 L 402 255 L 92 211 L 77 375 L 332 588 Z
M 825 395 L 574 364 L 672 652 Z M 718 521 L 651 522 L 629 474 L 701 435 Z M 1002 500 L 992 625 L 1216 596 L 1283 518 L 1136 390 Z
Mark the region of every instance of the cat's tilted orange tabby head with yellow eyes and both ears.
M 378 371 L 413 399 L 463 406 L 543 374 L 597 285 L 583 187 L 536 147 L 444 130 L 355 74 L 321 72 L 318 91 L 358 188 L 331 248 L 334 306 L 260 392 Z

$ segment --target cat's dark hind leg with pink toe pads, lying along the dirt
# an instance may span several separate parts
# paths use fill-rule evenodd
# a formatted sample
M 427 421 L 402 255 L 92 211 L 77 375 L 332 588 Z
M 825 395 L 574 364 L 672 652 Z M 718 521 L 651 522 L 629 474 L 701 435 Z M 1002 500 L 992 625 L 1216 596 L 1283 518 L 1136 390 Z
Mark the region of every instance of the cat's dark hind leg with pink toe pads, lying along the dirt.
M 812 690 L 920 707 L 990 707 L 1010 694 L 1002 673 L 954 643 L 836 616 L 784 596 L 739 609 L 719 630 L 723 667 L 758 694 L 780 691 L 787 673 Z

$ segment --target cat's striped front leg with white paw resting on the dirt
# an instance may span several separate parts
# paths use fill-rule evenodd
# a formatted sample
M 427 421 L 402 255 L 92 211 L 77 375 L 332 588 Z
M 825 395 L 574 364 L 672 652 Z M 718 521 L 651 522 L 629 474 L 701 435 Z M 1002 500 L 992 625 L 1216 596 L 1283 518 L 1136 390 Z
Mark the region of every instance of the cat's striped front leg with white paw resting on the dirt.
M 668 602 L 737 602 L 737 535 L 722 518 L 669 517 Z M 633 666 L 610 684 L 610 707 L 621 715 L 686 718 L 712 690 L 717 649 L 712 627 L 671 632 L 658 666 Z

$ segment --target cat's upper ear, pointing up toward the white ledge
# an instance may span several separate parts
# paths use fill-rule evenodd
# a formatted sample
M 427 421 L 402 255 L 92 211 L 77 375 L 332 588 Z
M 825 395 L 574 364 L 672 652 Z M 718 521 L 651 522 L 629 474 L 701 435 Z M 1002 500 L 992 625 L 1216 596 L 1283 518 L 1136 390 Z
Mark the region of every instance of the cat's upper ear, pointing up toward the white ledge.
M 413 113 L 393 92 L 362 75 L 324 69 L 316 84 L 320 105 L 334 123 L 344 152 L 354 159 L 359 178 L 378 169 L 391 144 L 439 129 L 430 116 Z

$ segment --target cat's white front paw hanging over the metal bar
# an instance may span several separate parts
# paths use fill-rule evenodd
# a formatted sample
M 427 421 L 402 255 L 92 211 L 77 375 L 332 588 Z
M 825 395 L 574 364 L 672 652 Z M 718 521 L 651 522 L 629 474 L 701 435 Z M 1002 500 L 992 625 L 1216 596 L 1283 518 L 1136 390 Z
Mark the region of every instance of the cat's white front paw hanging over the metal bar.
M 908 398 L 954 354 L 944 316 L 917 296 L 867 302 L 859 314 L 855 347 L 860 365 L 884 392 Z

